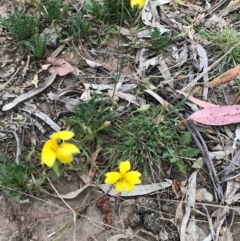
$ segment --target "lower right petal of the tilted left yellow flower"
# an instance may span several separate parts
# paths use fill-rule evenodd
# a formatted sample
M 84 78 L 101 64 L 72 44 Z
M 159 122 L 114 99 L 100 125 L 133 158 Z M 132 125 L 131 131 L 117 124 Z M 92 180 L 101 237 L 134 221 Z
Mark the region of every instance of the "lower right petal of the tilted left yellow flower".
M 74 146 L 74 145 L 70 144 L 70 143 L 62 143 L 59 145 L 58 150 L 56 151 L 56 156 L 60 162 L 70 163 L 73 161 L 73 154 L 78 153 L 78 152 L 76 152 L 76 151 L 72 152 L 74 149 L 72 146 Z M 75 148 L 77 148 L 77 147 L 75 147 Z

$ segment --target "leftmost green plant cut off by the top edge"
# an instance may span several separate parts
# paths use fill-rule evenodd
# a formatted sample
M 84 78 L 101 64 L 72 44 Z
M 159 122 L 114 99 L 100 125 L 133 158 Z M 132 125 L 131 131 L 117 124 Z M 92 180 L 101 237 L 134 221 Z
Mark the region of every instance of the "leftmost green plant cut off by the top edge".
M 42 19 L 52 22 L 61 18 L 61 0 L 40 0 L 35 3 Z

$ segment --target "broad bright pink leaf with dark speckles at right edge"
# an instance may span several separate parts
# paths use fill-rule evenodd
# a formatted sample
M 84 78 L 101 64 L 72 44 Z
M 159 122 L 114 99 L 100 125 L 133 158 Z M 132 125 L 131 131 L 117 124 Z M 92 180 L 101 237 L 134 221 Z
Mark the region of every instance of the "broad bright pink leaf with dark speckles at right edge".
M 240 122 L 240 105 L 210 107 L 195 112 L 188 117 L 205 125 L 222 126 Z

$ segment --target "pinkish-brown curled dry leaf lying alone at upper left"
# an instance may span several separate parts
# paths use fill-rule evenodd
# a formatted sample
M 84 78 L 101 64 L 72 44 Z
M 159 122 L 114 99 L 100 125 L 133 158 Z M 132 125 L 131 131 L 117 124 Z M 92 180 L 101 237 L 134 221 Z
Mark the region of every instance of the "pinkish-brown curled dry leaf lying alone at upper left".
M 47 61 L 52 64 L 52 66 L 48 68 L 50 73 L 56 73 L 59 76 L 65 76 L 75 71 L 73 66 L 64 59 L 48 57 Z

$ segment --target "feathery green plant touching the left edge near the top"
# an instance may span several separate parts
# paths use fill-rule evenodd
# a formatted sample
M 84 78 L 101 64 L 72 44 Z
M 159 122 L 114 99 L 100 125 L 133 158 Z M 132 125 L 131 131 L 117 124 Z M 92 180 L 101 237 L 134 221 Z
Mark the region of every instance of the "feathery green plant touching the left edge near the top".
M 16 11 L 8 18 L 0 15 L 0 26 L 7 30 L 7 34 L 15 42 L 27 40 L 38 31 L 39 19 L 23 11 Z

